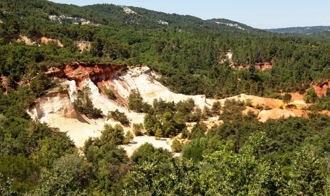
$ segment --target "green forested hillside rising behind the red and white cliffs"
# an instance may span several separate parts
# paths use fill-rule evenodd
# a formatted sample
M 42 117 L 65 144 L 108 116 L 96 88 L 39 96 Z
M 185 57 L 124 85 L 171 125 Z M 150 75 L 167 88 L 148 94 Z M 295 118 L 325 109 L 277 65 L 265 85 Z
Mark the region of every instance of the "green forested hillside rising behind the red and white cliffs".
M 8 46 L 2 41 L 0 72 L 14 81 L 24 74 L 33 77 L 51 65 L 124 62 L 149 65 L 164 75 L 160 81 L 176 92 L 226 97 L 238 93 L 270 96 L 281 90 L 302 93 L 311 81 L 328 79 L 330 75 L 328 39 L 272 34 L 236 23 L 247 29 L 241 30 L 215 24 L 233 21 L 203 21 L 135 7 L 131 9 L 141 16 L 126 14 L 122 8 L 108 4 L 79 7 L 45 0 L 14 0 L 2 1 L 0 9 L 7 11 L 1 13 L 1 35 L 44 35 L 58 38 L 64 45 Z M 54 13 L 80 16 L 102 25 L 49 21 L 48 14 Z M 167 20 L 169 25 L 160 25 L 157 20 Z M 79 40 L 90 41 L 91 49 L 79 53 L 73 44 Z M 232 69 L 227 61 L 221 61 L 227 50 L 233 52 L 236 65 L 272 60 L 273 68 Z

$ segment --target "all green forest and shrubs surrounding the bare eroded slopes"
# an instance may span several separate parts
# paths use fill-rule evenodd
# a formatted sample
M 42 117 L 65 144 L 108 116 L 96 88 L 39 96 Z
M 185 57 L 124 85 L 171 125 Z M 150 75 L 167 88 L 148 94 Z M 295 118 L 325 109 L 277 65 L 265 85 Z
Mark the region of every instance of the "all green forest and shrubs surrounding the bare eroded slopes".
M 174 143 L 179 157 L 150 144 L 128 157 L 120 125 L 105 126 L 100 138 L 78 149 L 65 132 L 32 120 L 26 111 L 33 101 L 63 88 L 45 72 L 77 62 L 147 65 L 172 91 L 207 98 L 282 98 L 279 93 L 304 94 L 330 80 L 327 34 L 278 34 L 226 19 L 128 8 L 135 13 L 112 4 L 0 1 L 0 195 L 330 195 L 330 117 L 317 112 L 262 123 L 242 114 L 249 104 L 241 101 L 208 110 L 132 98 L 139 107 L 130 109 L 150 117 L 136 127 L 155 136 L 182 130 L 190 142 Z M 270 69 L 256 69 L 266 62 Z M 86 95 L 78 96 L 101 116 Z M 329 110 L 330 90 L 308 96 L 310 108 Z M 200 121 L 212 116 L 223 124 L 207 130 Z M 110 117 L 129 123 L 118 111 Z M 190 121 L 196 123 L 191 132 L 184 124 Z

